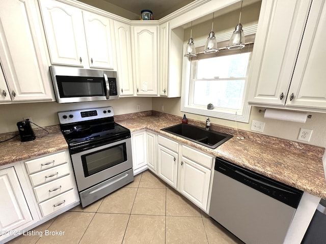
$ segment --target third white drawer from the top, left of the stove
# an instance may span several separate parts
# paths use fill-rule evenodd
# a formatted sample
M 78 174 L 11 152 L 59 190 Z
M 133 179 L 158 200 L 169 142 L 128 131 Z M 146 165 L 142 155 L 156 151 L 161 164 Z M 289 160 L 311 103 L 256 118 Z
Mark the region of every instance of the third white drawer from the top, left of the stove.
M 51 197 L 57 196 L 63 192 L 72 189 L 71 175 L 64 176 L 60 179 L 47 182 L 39 187 L 34 188 L 35 196 L 38 202 L 42 202 Z

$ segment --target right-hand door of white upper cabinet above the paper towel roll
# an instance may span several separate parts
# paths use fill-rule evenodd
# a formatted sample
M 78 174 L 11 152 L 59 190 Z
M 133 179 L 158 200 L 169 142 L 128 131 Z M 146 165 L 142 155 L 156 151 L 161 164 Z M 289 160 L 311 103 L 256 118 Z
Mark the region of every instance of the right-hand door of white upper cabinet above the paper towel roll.
M 286 104 L 290 106 L 326 108 L 326 3 L 314 0 L 305 34 L 297 57 Z M 290 99 L 293 94 L 293 99 Z

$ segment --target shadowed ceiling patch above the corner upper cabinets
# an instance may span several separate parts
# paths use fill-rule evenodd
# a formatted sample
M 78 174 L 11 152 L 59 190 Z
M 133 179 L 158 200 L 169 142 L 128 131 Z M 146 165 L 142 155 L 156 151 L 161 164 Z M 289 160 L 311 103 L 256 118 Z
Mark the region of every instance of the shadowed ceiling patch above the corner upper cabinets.
M 120 8 L 126 9 L 132 13 L 140 15 L 144 9 L 153 12 L 154 19 L 160 19 L 172 12 L 186 6 L 195 0 L 103 0 L 104 2 L 114 4 Z

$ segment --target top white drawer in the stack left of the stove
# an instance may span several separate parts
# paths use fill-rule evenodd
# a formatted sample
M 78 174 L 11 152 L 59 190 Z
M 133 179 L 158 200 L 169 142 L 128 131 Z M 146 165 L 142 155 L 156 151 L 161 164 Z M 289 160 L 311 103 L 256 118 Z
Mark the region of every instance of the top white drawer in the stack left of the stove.
M 42 158 L 26 161 L 25 165 L 28 173 L 31 174 L 64 163 L 67 163 L 67 157 L 66 157 L 66 152 L 62 151 L 61 153 L 58 154 L 52 154 Z

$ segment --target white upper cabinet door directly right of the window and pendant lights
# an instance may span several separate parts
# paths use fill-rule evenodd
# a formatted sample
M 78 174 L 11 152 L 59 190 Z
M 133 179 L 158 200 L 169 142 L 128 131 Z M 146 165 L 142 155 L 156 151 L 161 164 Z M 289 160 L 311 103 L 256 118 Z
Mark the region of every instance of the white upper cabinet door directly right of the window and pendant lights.
M 285 104 L 310 3 L 262 2 L 249 74 L 249 103 Z

